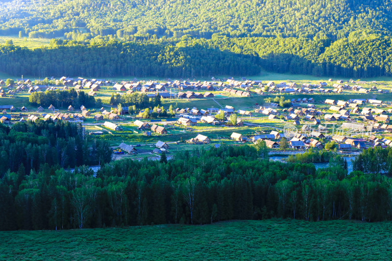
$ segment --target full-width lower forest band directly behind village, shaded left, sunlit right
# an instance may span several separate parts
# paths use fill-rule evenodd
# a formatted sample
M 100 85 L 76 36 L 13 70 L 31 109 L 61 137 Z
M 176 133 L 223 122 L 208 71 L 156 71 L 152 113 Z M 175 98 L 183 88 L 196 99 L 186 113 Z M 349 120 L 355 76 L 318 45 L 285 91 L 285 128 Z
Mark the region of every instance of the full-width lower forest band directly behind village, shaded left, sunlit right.
M 76 58 L 77 59 L 74 59 Z M 29 57 L 26 62 L 25 57 Z M 392 75 L 392 38 L 351 33 L 327 38 L 156 37 L 131 42 L 88 43 L 52 39 L 49 47 L 0 46 L 0 71 L 11 75 L 91 77 L 191 77 L 280 73 L 364 78 Z

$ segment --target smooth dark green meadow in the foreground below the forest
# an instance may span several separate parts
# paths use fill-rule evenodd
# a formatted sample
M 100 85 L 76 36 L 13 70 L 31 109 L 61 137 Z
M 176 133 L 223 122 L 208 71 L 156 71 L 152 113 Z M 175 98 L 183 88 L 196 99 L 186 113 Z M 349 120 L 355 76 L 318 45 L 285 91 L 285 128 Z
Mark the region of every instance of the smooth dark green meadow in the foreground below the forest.
M 227 221 L 1 232 L 1 260 L 390 260 L 391 223 Z

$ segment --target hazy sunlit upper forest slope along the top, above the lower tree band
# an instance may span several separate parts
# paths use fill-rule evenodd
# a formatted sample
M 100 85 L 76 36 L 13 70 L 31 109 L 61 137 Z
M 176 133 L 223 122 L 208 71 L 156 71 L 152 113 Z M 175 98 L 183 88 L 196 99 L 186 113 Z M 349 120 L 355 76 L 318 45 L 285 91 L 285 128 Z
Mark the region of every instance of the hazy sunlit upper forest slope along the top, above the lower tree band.
M 355 30 L 390 34 L 391 0 L 7 0 L 0 32 L 80 39 L 156 34 L 232 37 L 348 37 Z M 44 14 L 44 15 L 43 15 Z

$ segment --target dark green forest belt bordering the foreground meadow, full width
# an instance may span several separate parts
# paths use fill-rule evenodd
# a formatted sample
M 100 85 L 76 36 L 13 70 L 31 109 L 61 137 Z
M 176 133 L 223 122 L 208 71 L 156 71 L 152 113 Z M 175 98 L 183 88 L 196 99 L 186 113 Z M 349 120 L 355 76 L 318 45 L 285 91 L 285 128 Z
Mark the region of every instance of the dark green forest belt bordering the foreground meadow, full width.
M 391 150 L 392 151 L 392 150 Z M 72 229 L 230 219 L 309 221 L 392 219 L 391 179 L 347 174 L 341 158 L 313 164 L 270 162 L 257 147 L 185 151 L 171 160 L 122 160 L 98 173 L 42 163 L 0 180 L 0 229 Z M 28 165 L 28 163 L 26 163 Z

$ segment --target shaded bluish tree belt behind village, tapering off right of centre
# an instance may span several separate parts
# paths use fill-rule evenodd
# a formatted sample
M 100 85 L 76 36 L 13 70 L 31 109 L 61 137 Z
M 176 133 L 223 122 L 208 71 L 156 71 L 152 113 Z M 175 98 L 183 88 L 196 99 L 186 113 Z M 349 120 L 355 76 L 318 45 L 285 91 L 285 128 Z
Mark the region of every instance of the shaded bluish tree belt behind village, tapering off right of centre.
M 77 60 L 73 59 L 77 53 Z M 92 77 L 196 77 L 257 74 L 257 57 L 221 51 L 208 43 L 92 42 L 53 40 L 49 47 L 0 46 L 0 70 L 12 75 L 91 75 Z M 29 63 L 24 61 L 29 57 Z M 61 62 L 60 62 L 61 61 Z M 46 77 L 45 76 L 45 77 Z

